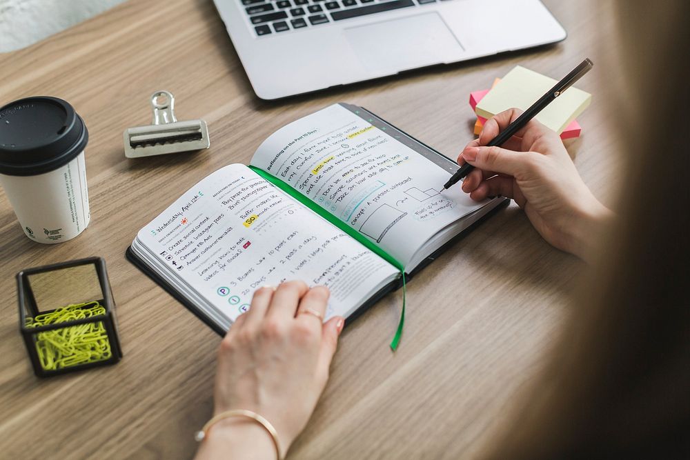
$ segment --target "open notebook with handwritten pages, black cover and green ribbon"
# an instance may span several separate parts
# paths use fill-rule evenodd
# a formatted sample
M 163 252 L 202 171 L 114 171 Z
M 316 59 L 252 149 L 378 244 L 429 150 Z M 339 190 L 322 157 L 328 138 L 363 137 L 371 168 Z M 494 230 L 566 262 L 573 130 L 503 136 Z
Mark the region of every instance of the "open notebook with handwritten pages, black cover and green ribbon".
M 364 108 L 298 119 L 196 183 L 137 234 L 130 261 L 214 330 L 254 290 L 286 279 L 331 289 L 326 317 L 371 305 L 506 199 L 442 190 L 455 162 Z

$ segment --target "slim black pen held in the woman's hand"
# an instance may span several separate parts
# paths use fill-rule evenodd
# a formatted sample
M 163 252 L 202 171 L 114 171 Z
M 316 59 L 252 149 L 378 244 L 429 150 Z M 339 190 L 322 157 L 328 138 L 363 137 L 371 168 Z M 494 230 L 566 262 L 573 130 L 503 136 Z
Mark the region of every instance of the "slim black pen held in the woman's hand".
M 578 81 L 582 75 L 586 74 L 589 72 L 589 69 L 592 68 L 594 63 L 590 61 L 589 59 L 585 59 L 580 63 L 579 66 L 573 69 L 572 72 L 567 74 L 564 79 L 556 83 L 556 85 L 549 90 L 549 92 L 546 92 L 542 97 L 538 99 L 535 103 L 532 104 L 532 106 L 525 110 L 520 117 L 517 117 L 513 123 L 509 124 L 508 128 L 503 130 L 500 134 L 498 134 L 496 137 L 491 139 L 489 143 L 486 144 L 486 147 L 491 147 L 491 146 L 501 146 L 503 143 L 505 143 L 508 139 L 513 137 L 515 133 L 519 130 L 521 130 L 531 119 L 537 116 L 539 112 L 544 110 L 546 106 L 548 106 L 554 99 L 559 97 L 565 90 L 570 88 L 575 81 Z M 457 181 L 460 181 L 463 177 L 465 177 L 471 170 L 474 169 L 474 166 L 472 166 L 470 163 L 465 163 L 464 165 L 460 166 L 460 169 L 455 172 L 451 176 L 451 179 L 448 180 L 448 182 L 445 183 L 443 186 L 444 189 L 449 188 L 452 186 L 454 183 L 457 183 Z

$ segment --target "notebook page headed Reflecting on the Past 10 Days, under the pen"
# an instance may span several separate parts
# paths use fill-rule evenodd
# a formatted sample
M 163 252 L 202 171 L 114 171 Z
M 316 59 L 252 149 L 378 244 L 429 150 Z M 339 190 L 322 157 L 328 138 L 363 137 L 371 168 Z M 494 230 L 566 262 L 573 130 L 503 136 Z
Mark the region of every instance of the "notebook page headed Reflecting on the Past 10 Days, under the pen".
M 294 121 L 251 164 L 282 179 L 408 265 L 442 228 L 488 202 L 453 187 L 451 174 L 337 104 Z

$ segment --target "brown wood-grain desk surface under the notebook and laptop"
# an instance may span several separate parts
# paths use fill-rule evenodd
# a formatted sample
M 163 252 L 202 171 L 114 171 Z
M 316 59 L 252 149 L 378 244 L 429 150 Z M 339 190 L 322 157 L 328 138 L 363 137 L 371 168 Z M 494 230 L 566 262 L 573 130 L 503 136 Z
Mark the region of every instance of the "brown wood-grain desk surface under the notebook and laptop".
M 211 413 L 219 337 L 130 265 L 137 230 L 193 183 L 247 163 L 277 128 L 337 101 L 357 103 L 454 156 L 473 136 L 472 90 L 520 63 L 561 77 L 583 57 L 598 66 L 581 139 L 569 143 L 595 194 L 611 201 L 620 157 L 604 128 L 615 74 L 604 3 L 546 1 L 563 43 L 411 72 L 282 102 L 257 99 L 210 0 L 130 0 L 75 28 L 0 55 L 2 103 L 49 94 L 86 121 L 92 210 L 72 241 L 23 236 L 0 193 L 0 452 L 8 459 L 190 458 Z M 150 119 L 148 97 L 170 90 L 180 119 L 204 118 L 211 148 L 129 160 L 122 131 Z M 18 332 L 14 274 L 99 255 L 106 259 L 124 359 L 63 377 L 34 377 Z M 331 381 L 293 459 L 475 457 L 544 361 L 584 265 L 551 248 L 513 204 L 458 242 L 408 288 L 402 346 L 388 349 L 400 292 L 349 327 Z

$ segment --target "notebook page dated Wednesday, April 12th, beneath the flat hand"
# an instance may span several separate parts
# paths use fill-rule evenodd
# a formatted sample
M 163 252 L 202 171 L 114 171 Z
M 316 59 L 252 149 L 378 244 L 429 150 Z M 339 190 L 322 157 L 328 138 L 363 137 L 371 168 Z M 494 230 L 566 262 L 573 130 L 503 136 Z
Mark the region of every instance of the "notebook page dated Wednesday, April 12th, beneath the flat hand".
M 244 165 L 221 168 L 137 234 L 168 278 L 234 321 L 253 292 L 288 279 L 331 289 L 346 315 L 399 272 Z

